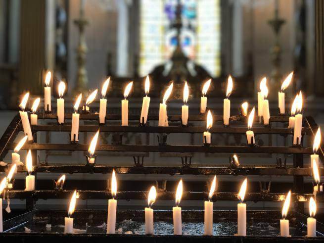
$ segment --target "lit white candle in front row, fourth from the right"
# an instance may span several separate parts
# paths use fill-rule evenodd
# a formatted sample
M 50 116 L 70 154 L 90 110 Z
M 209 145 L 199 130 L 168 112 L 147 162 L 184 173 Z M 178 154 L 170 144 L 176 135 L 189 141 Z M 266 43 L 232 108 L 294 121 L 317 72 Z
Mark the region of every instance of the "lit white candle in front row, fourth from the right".
M 216 176 L 214 176 L 210 191 L 208 194 L 208 201 L 205 201 L 205 212 L 204 212 L 204 235 L 213 235 L 213 202 L 211 201 L 216 188 Z

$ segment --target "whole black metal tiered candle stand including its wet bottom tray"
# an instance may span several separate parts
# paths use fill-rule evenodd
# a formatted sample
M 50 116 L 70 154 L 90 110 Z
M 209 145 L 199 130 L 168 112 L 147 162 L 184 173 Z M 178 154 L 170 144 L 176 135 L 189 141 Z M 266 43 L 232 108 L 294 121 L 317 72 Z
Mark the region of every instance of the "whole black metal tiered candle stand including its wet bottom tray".
M 39 120 L 54 120 L 56 119 L 55 113 L 38 113 Z M 65 120 L 72 118 L 71 113 L 65 114 Z M 81 113 L 81 120 L 93 120 L 98 122 L 98 114 L 93 113 Z M 106 120 L 120 120 L 120 114 L 107 114 Z M 130 121 L 139 121 L 138 116 L 129 115 Z M 158 116 L 149 115 L 150 121 L 157 121 Z M 80 227 L 86 230 L 80 231 L 78 234 L 63 234 L 63 228 L 59 225 L 63 224 L 64 217 L 66 217 L 66 210 L 43 210 L 36 209 L 35 204 L 37 200 L 41 199 L 67 199 L 70 198 L 74 190 L 61 190 L 53 187 L 53 182 L 42 182 L 42 185 L 36 183 L 35 191 L 24 191 L 19 189 L 13 189 L 7 192 L 9 198 L 26 199 L 26 210 L 16 211 L 12 209 L 13 215 L 17 213 L 15 217 L 11 217 L 3 222 L 4 233 L 0 234 L 1 241 L 15 242 L 41 242 L 56 243 L 56 242 L 237 242 L 237 243 L 270 243 L 270 242 L 323 242 L 324 241 L 324 225 L 317 224 L 318 237 L 306 238 L 307 232 L 306 219 L 304 215 L 304 204 L 308 203 L 308 200 L 313 196 L 312 192 L 306 192 L 304 189 L 304 177 L 311 177 L 311 168 L 304 168 L 303 155 L 313 153 L 312 147 L 304 146 L 259 146 L 256 140 L 256 146 L 240 145 L 240 146 L 223 146 L 213 145 L 209 146 L 201 145 L 170 145 L 167 141 L 167 135 L 176 134 L 203 134 L 206 130 L 206 116 L 205 115 L 189 115 L 188 120 L 190 122 L 196 122 L 199 126 L 182 126 L 181 115 L 169 115 L 169 122 L 177 126 L 172 125 L 169 127 L 158 126 L 119 126 L 119 125 L 100 125 L 100 132 L 109 132 L 112 134 L 124 134 L 124 133 L 154 133 L 160 138 L 159 145 L 125 145 L 122 140 L 118 144 L 98 144 L 96 151 L 115 151 L 115 152 L 159 152 L 159 153 L 181 153 L 181 161 L 179 166 L 145 166 L 145 162 L 142 156 L 131 155 L 134 158 L 133 166 L 110 166 L 109 163 L 94 164 L 93 166 L 86 166 L 84 161 L 80 161 L 80 164 L 54 164 L 54 163 L 40 163 L 37 161 L 38 150 L 61 150 L 61 151 L 87 151 L 87 144 L 82 143 L 69 143 L 69 144 L 45 144 L 38 143 L 37 136 L 33 143 L 26 143 L 22 149 L 31 149 L 33 152 L 33 173 L 37 177 L 38 173 L 91 173 L 91 174 L 108 174 L 112 173 L 113 169 L 116 174 L 159 174 L 159 175 L 244 175 L 244 176 L 292 176 L 293 188 L 291 194 L 291 202 L 294 205 L 294 210 L 291 210 L 287 216 L 291 222 L 291 238 L 279 237 L 279 219 L 281 218 L 280 212 L 269 210 L 248 210 L 247 211 L 247 235 L 246 237 L 234 236 L 236 233 L 236 210 L 214 210 L 214 236 L 202 236 L 203 235 L 203 214 L 201 210 L 183 210 L 183 236 L 174 236 L 172 228 L 172 211 L 170 210 L 155 210 L 154 211 L 154 229 L 155 236 L 144 235 L 144 212 L 143 210 L 118 210 L 117 211 L 117 226 L 123 228 L 123 234 L 107 235 L 104 226 L 100 227 L 100 224 L 107 222 L 107 212 L 104 210 L 77 210 L 74 214 L 75 228 Z M 213 116 L 214 127 L 209 129 L 211 134 L 242 134 L 245 135 L 246 126 L 242 126 L 247 123 L 247 117 L 245 116 L 231 116 L 231 126 L 223 126 L 221 124 L 223 116 Z M 255 119 L 257 120 L 257 119 Z M 278 115 L 271 117 L 271 123 L 283 124 L 282 126 L 257 126 L 253 127 L 255 135 L 267 134 L 277 135 L 286 138 L 290 142 L 290 136 L 293 135 L 291 129 L 286 128 L 289 121 L 288 115 Z M 218 122 L 218 123 L 217 123 Z M 236 126 L 239 125 L 239 126 Z M 97 125 L 80 125 L 79 132 L 96 132 L 98 130 L 99 123 Z M 302 134 L 306 136 L 314 136 L 314 131 L 317 130 L 317 124 L 311 117 L 304 117 Z M 64 123 L 63 125 L 33 125 L 33 133 L 38 132 L 62 132 L 70 133 L 71 125 Z M 20 116 L 17 115 L 13 118 L 5 133 L 0 139 L 0 159 L 3 159 L 9 150 L 13 149 L 16 144 L 14 140 L 18 133 L 22 131 L 22 125 Z M 291 143 L 291 142 L 290 142 Z M 245 154 L 285 154 L 293 155 L 293 166 L 286 166 L 286 162 L 282 163 L 281 158 L 274 161 L 274 164 L 269 166 L 233 166 L 230 163 L 228 166 L 201 166 L 193 165 L 191 163 L 191 156 L 188 153 L 245 153 Z M 323 155 L 320 154 L 322 161 L 324 161 Z M 254 159 L 258 159 L 254 157 Z M 200 163 L 202 164 L 202 163 Z M 6 171 L 7 166 L 1 166 L 0 171 Z M 18 173 L 26 173 L 25 167 L 18 167 Z M 324 174 L 324 168 L 320 168 L 320 174 Z M 37 182 L 37 180 L 36 180 Z M 82 183 L 83 182 L 83 183 Z M 19 180 L 16 180 L 19 184 Z M 109 199 L 111 194 L 105 187 L 106 185 L 100 180 L 87 180 L 86 184 L 81 180 L 71 180 L 69 182 L 70 187 L 78 190 L 80 197 L 78 200 L 83 199 Z M 123 189 L 127 191 L 118 191 L 116 198 L 118 200 L 132 200 L 142 199 L 146 200 L 148 192 L 144 191 L 148 188 L 148 183 L 143 181 L 142 183 L 136 183 L 134 181 L 123 180 Z M 174 200 L 175 192 L 172 190 L 172 182 L 164 181 L 164 187 L 158 188 L 158 200 Z M 186 188 L 190 188 L 187 182 Z M 191 182 L 193 188 L 200 188 L 195 191 L 185 191 L 183 193 L 183 200 L 200 200 L 208 198 L 208 192 L 201 182 Z M 270 185 L 271 184 L 271 188 Z M 280 192 L 280 183 L 270 183 L 267 189 L 260 187 L 259 192 L 255 190 L 249 190 L 245 195 L 245 201 L 282 201 L 286 192 Z M 140 188 L 140 186 L 141 188 Z M 160 182 L 157 182 L 160 185 Z M 226 186 L 224 184 L 222 192 L 215 192 L 212 197 L 212 201 L 218 200 L 234 200 L 237 201 L 237 192 L 228 190 L 231 185 Z M 91 188 L 88 188 L 91 187 Z M 251 182 L 251 187 L 257 188 L 259 184 Z M 18 187 L 19 188 L 19 187 Z M 144 188 L 144 189 L 143 189 Z M 91 190 L 90 190 L 91 189 Z M 228 192 L 224 191 L 228 190 Z M 324 202 L 324 194 L 317 194 L 317 202 Z M 171 207 L 170 207 L 171 209 Z M 133 220 L 128 220 L 133 219 Z M 319 221 L 319 220 L 318 220 Z M 320 221 L 321 222 L 321 221 Z M 46 224 L 51 224 L 50 229 L 46 228 Z M 217 225 L 217 227 L 215 226 Z M 24 227 L 31 228 L 31 233 L 25 233 Z M 216 227 L 216 228 L 215 228 Z M 132 230 L 133 235 L 125 234 L 126 230 Z

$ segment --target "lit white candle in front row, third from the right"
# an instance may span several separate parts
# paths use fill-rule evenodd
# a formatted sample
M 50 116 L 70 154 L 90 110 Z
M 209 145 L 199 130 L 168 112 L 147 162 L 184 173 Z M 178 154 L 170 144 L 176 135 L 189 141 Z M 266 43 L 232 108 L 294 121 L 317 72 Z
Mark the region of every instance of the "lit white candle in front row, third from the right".
M 237 198 L 239 203 L 237 204 L 237 235 L 246 236 L 246 204 L 243 203 L 246 192 L 247 178 L 243 181 Z

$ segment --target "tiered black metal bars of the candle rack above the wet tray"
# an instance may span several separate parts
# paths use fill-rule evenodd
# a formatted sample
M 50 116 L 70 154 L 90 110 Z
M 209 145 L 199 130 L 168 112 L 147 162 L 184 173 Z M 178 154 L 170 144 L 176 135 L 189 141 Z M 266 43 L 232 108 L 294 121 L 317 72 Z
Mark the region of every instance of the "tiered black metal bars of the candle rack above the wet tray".
M 56 114 L 38 113 L 39 119 L 56 119 Z M 71 119 L 72 114 L 66 114 L 66 119 Z M 222 116 L 214 115 L 214 121 L 222 121 Z M 287 123 L 289 116 L 280 115 L 272 116 L 271 123 Z M 80 114 L 80 120 L 98 120 L 98 114 Z M 120 115 L 107 114 L 106 120 L 120 120 Z M 138 116 L 129 116 L 129 120 L 139 120 Z M 149 120 L 158 120 L 158 116 L 149 115 Z M 112 167 L 109 165 L 94 165 L 87 166 L 85 163 L 80 165 L 55 165 L 55 164 L 40 164 L 37 161 L 37 150 L 88 150 L 86 144 L 41 144 L 37 142 L 37 136 L 34 136 L 33 143 L 25 144 L 22 149 L 31 149 L 33 152 L 33 165 L 34 174 L 37 173 L 111 173 L 115 169 L 116 173 L 121 174 L 165 174 L 165 175 L 280 175 L 280 176 L 293 176 L 293 193 L 292 201 L 295 202 L 295 211 L 303 212 L 304 203 L 308 201 L 308 198 L 312 194 L 306 194 L 304 192 L 304 176 L 311 176 L 312 172 L 310 168 L 303 168 L 303 155 L 312 154 L 312 147 L 303 146 L 173 146 L 167 144 L 167 135 L 170 133 L 182 133 L 182 134 L 199 134 L 203 133 L 205 128 L 205 115 L 190 115 L 189 121 L 201 122 L 201 127 L 181 126 L 180 115 L 168 116 L 169 121 L 179 122 L 179 126 L 170 127 L 156 127 L 156 126 L 110 126 L 110 125 L 80 125 L 79 132 L 95 132 L 100 126 L 100 132 L 111 133 L 155 133 L 160 136 L 159 145 L 123 145 L 122 138 L 120 143 L 113 145 L 97 145 L 97 151 L 128 151 L 128 152 L 177 152 L 184 153 L 182 157 L 182 166 L 179 167 L 145 167 L 143 159 L 140 161 L 140 157 L 134 157 L 134 166 L 117 166 Z M 257 119 L 255 119 L 257 120 Z M 210 133 L 222 133 L 222 134 L 244 134 L 246 132 L 246 125 L 244 127 L 235 127 L 235 124 L 246 124 L 247 117 L 244 116 L 232 116 L 230 118 L 230 126 L 218 126 L 213 127 L 209 131 Z M 317 129 L 317 124 L 311 117 L 304 118 L 303 121 L 303 135 L 314 135 L 314 131 Z M 32 126 L 34 135 L 37 132 L 44 131 L 60 131 L 70 132 L 71 125 L 34 125 Z M 15 144 L 13 143 L 17 134 L 22 131 L 19 115 L 15 116 L 2 138 L 0 139 L 0 159 L 3 159 L 8 150 L 13 149 Z M 288 128 L 277 128 L 272 126 L 265 127 L 253 127 L 254 134 L 278 134 L 281 136 L 292 135 L 293 131 Z M 305 136 L 303 136 L 304 139 Z M 161 141 L 163 138 L 163 141 Z M 185 157 L 185 153 L 279 153 L 279 154 L 292 154 L 293 155 L 293 167 L 286 167 L 282 165 L 281 160 L 277 165 L 273 167 L 233 167 L 229 164 L 229 167 L 193 167 L 191 166 L 191 159 Z M 320 155 L 323 160 L 323 153 Z M 6 167 L 1 167 L 1 171 L 5 171 Z M 18 172 L 26 172 L 25 168 L 18 168 Z M 324 170 L 321 169 L 320 173 Z M 81 199 L 106 199 L 110 198 L 108 191 L 78 191 Z M 48 198 L 69 198 L 72 191 L 68 190 L 36 190 L 32 192 L 10 190 L 9 198 L 26 199 L 26 209 L 33 210 L 35 208 L 35 201 L 38 199 Z M 207 192 L 185 192 L 183 199 L 185 200 L 203 200 L 207 198 Z M 247 193 L 245 200 L 247 201 L 281 201 L 282 193 L 270 193 L 269 190 L 260 190 L 259 193 Z M 118 192 L 118 199 L 146 199 L 147 192 L 138 191 L 123 191 Z M 174 199 L 174 192 L 168 192 L 161 190 L 159 192 L 159 199 Z M 237 200 L 236 193 L 224 192 L 215 193 L 212 200 Z M 322 194 L 317 195 L 317 201 L 323 202 L 324 196 Z

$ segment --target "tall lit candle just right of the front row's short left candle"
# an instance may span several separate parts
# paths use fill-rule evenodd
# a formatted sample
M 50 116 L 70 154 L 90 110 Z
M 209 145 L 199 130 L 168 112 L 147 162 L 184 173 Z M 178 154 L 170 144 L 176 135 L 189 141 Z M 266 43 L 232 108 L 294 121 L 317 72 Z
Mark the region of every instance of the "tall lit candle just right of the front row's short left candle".
M 112 199 L 108 200 L 107 234 L 116 233 L 116 209 L 117 209 L 117 200 L 115 199 L 116 194 L 117 194 L 117 180 L 116 180 L 115 170 L 113 170 L 111 175 Z

